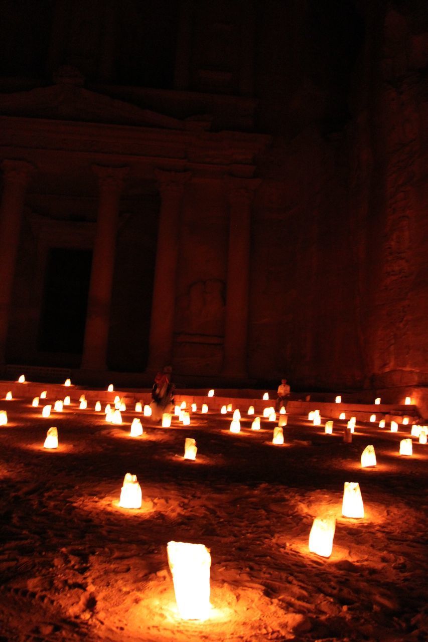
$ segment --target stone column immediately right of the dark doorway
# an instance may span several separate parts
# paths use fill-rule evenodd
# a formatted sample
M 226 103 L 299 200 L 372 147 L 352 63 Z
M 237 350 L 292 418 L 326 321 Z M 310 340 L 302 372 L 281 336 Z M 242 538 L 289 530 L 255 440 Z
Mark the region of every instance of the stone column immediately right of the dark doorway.
M 89 283 L 82 368 L 106 370 L 119 202 L 123 179 L 129 168 L 95 165 L 93 170 L 98 177 L 100 200 Z

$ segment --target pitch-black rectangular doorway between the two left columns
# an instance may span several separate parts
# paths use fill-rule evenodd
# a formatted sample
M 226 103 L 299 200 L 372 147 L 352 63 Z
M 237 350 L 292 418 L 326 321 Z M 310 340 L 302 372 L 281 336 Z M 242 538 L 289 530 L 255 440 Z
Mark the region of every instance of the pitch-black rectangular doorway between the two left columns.
M 40 351 L 82 353 L 91 263 L 92 250 L 49 250 L 39 333 Z

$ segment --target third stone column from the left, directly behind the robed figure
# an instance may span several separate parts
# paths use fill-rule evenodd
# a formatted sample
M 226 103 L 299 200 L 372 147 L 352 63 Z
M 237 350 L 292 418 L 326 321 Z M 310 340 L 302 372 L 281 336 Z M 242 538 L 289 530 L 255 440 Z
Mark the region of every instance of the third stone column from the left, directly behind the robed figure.
M 158 370 L 172 360 L 181 200 L 184 186 L 191 177 L 189 171 L 157 169 L 155 173 L 161 193 L 161 211 L 150 318 L 148 372 Z

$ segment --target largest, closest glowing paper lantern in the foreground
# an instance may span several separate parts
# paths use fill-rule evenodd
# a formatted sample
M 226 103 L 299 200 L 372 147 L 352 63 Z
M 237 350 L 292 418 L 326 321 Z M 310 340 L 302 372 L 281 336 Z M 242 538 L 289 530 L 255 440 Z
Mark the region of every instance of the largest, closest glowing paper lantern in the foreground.
M 168 542 L 168 564 L 175 601 L 183 620 L 206 620 L 210 615 L 210 551 L 204 544 Z

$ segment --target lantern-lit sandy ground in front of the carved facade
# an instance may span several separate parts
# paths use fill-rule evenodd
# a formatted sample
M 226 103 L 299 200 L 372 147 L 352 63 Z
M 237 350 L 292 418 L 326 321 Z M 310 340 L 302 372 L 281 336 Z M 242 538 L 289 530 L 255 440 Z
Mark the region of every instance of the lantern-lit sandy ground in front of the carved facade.
M 240 400 L 241 411 L 247 404 Z M 42 419 L 30 400 L 1 401 L 0 642 L 428 640 L 428 446 L 357 424 L 352 444 L 289 417 L 229 433 L 231 415 L 196 413 L 163 429 L 134 412 L 121 426 L 73 404 Z M 335 427 L 343 422 L 335 421 Z M 60 447 L 42 448 L 49 426 Z M 404 427 L 403 427 L 404 428 Z M 184 438 L 197 441 L 183 460 Z M 367 444 L 378 465 L 361 469 Z M 141 510 L 118 506 L 137 474 Z M 364 519 L 341 516 L 343 483 L 359 482 Z M 337 517 L 330 559 L 308 551 L 312 519 Z M 211 550 L 210 620 L 181 621 L 166 543 Z

